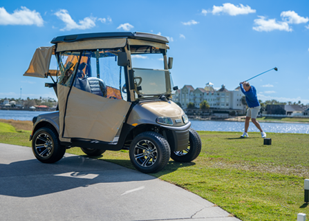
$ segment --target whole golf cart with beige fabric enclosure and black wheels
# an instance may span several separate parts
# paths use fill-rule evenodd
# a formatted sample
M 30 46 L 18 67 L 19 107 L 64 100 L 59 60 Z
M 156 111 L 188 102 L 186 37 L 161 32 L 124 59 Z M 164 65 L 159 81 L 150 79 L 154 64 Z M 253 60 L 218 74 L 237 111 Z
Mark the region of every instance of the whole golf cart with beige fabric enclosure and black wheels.
M 177 87 L 169 73 L 168 42 L 142 32 L 102 32 L 55 37 L 53 46 L 37 48 L 24 76 L 49 76 L 53 83 L 45 86 L 54 88 L 59 110 L 32 120 L 37 160 L 57 162 L 73 146 L 89 156 L 129 149 L 133 166 L 143 173 L 160 171 L 170 157 L 196 159 L 200 137 L 172 102 Z M 50 70 L 53 55 L 57 70 Z M 160 62 L 160 68 L 140 67 L 140 57 Z

